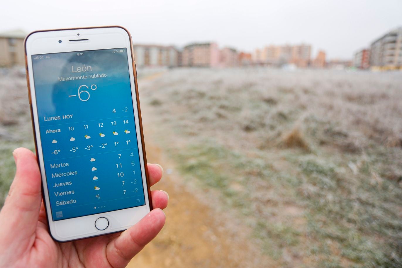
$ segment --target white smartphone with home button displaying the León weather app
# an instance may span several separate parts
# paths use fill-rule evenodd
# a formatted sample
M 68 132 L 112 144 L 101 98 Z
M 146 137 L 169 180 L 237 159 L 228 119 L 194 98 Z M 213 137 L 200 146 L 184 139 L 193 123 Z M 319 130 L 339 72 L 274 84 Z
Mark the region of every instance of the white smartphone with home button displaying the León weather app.
M 152 202 L 131 35 L 119 26 L 35 31 L 25 54 L 51 236 L 134 225 Z

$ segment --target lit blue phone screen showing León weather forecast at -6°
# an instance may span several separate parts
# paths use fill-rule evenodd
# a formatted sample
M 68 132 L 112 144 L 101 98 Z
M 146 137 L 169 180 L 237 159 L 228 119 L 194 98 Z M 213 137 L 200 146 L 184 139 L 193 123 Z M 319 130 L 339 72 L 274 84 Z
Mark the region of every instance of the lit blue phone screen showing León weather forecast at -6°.
M 145 205 L 127 48 L 32 65 L 53 221 Z

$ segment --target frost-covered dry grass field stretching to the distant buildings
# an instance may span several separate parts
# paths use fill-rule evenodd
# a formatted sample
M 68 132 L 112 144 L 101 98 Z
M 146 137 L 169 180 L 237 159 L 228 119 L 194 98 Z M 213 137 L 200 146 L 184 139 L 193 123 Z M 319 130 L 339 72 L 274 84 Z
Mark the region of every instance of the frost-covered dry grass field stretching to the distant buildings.
M 246 256 L 236 260 L 239 267 L 402 267 L 401 73 L 193 68 L 145 74 L 139 70 L 152 133 L 146 144 L 174 166 L 161 163 L 166 176 L 177 170 L 168 182 L 178 192 L 191 189 L 203 208 L 222 217 L 217 230 L 232 232 L 214 238 L 222 254 L 229 254 L 231 241 L 224 240 L 236 232 L 252 245 L 233 242 L 230 254 Z M 25 83 L 17 70 L 0 72 L 1 202 L 14 174 L 12 150 L 33 149 Z M 170 198 L 177 215 L 186 206 L 197 210 L 185 198 Z M 180 232 L 180 219 L 167 216 Z M 187 219 L 186 227 L 201 220 Z M 160 258 L 177 245 L 169 228 L 152 245 Z M 196 234 L 187 238 L 197 241 Z M 180 251 L 195 255 L 184 246 Z M 180 263 L 164 265 L 191 267 Z M 227 267 L 217 263 L 197 260 L 193 267 Z

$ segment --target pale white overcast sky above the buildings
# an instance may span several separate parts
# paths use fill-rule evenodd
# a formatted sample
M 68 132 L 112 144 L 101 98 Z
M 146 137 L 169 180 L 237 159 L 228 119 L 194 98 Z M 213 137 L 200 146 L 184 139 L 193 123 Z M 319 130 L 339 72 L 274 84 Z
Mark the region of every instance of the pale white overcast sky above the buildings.
M 59 4 L 60 3 L 60 4 Z M 63 4 L 61 4 L 63 3 Z M 0 31 L 122 25 L 134 43 L 216 41 L 253 51 L 309 43 L 313 57 L 348 59 L 402 27 L 402 0 L 3 0 Z

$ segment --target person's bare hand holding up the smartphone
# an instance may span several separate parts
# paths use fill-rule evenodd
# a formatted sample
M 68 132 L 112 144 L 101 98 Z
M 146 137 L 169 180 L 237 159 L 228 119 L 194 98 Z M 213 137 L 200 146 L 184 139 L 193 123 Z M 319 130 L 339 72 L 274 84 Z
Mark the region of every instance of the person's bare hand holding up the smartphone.
M 155 208 L 121 233 L 66 243 L 54 241 L 48 232 L 41 195 L 41 175 L 36 156 L 26 148 L 13 152 L 16 174 L 0 212 L 0 267 L 125 267 L 159 233 L 165 223 L 162 209 L 168 205 L 164 191 L 153 190 Z M 150 184 L 163 170 L 148 164 Z

